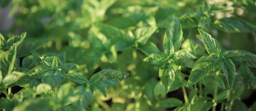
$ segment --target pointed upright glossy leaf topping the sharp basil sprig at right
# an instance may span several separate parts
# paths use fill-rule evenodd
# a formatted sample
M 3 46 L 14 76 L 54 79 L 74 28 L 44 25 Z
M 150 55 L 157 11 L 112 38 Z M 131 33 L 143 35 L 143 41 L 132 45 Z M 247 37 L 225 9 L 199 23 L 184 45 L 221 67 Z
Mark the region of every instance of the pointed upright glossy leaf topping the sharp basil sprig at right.
M 210 34 L 206 33 L 205 31 L 198 29 L 201 37 L 203 37 L 203 43 L 205 44 L 205 49 L 207 50 L 208 54 L 217 53 L 218 55 L 221 54 L 221 45 L 217 39 L 211 37 Z

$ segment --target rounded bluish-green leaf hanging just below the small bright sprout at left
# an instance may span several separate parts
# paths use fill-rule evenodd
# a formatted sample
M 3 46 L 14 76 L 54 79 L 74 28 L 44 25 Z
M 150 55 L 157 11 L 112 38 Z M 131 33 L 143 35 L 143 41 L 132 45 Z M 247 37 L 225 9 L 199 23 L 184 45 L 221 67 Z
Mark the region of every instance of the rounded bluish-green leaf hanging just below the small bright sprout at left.
M 63 73 L 60 71 L 54 72 L 52 70 L 49 70 L 42 76 L 42 80 L 43 83 L 47 83 L 51 85 L 52 88 L 55 88 L 56 86 L 60 85 L 60 83 L 64 79 L 62 75 Z

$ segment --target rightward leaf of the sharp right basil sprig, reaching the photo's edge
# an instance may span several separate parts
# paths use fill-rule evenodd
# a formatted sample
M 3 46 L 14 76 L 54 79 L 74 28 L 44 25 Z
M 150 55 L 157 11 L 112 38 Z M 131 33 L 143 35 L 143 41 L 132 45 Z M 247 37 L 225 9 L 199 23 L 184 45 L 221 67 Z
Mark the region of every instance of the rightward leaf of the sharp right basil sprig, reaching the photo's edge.
M 249 67 L 256 68 L 256 55 L 244 50 L 227 50 L 223 53 L 225 58 L 233 62 L 240 62 Z

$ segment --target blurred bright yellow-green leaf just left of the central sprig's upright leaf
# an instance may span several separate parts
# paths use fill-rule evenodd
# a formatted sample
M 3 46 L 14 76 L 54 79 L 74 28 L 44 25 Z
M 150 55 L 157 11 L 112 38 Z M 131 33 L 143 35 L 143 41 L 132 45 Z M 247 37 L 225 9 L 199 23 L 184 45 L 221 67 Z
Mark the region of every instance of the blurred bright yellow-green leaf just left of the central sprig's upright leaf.
M 154 32 L 157 30 L 157 27 L 142 27 L 138 28 L 135 31 L 135 35 L 137 38 L 137 42 L 141 45 L 144 45 L 147 43 L 147 40 L 154 34 Z

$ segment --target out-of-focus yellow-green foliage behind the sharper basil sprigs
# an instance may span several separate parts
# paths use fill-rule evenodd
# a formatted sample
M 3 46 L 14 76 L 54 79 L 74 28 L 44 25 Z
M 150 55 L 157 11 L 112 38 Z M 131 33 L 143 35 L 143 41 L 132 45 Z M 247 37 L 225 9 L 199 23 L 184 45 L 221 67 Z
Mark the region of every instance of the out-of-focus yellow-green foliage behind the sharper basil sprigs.
M 234 9 L 229 12 L 216 12 L 211 16 L 212 22 L 224 17 L 237 17 L 256 25 L 256 0 L 207 2 L 212 7 L 226 6 Z M 100 92 L 94 93 L 94 99 L 90 102 L 92 110 L 163 111 L 160 101 L 166 97 L 183 100 L 182 91 L 176 89 L 167 94 L 154 92 L 160 84 L 159 68 L 142 61 L 150 54 L 147 50 L 142 50 L 155 44 L 163 51 L 162 41 L 166 28 L 158 28 L 146 44 L 133 44 L 132 48 L 127 49 L 112 48 L 118 46 L 116 41 L 120 38 L 101 37 L 101 34 L 108 35 L 102 29 L 113 26 L 133 35 L 137 29 L 158 26 L 173 15 L 182 17 L 191 11 L 197 14 L 204 3 L 205 0 L 1 0 L 1 10 L 12 7 L 8 15 L 1 15 L 1 18 L 14 18 L 14 21 L 10 23 L 11 28 L 0 32 L 4 37 L 27 32 L 26 39 L 18 47 L 17 56 L 21 58 L 20 61 L 35 50 L 40 55 L 65 54 L 65 61 L 78 64 L 79 72 L 86 78 L 106 68 L 128 72 L 128 78 L 107 90 L 107 97 Z M 200 43 L 196 37 L 199 15 L 186 18 L 189 19 L 180 19 L 183 37 Z M 0 21 L 3 22 L 5 21 Z M 211 24 L 209 33 L 220 41 L 223 50 L 241 49 L 256 54 L 255 32 L 227 33 Z M 256 74 L 255 69 L 251 70 Z M 189 72 L 190 69 L 186 68 L 182 73 Z M 249 99 L 253 93 L 255 92 L 246 93 L 243 99 Z

